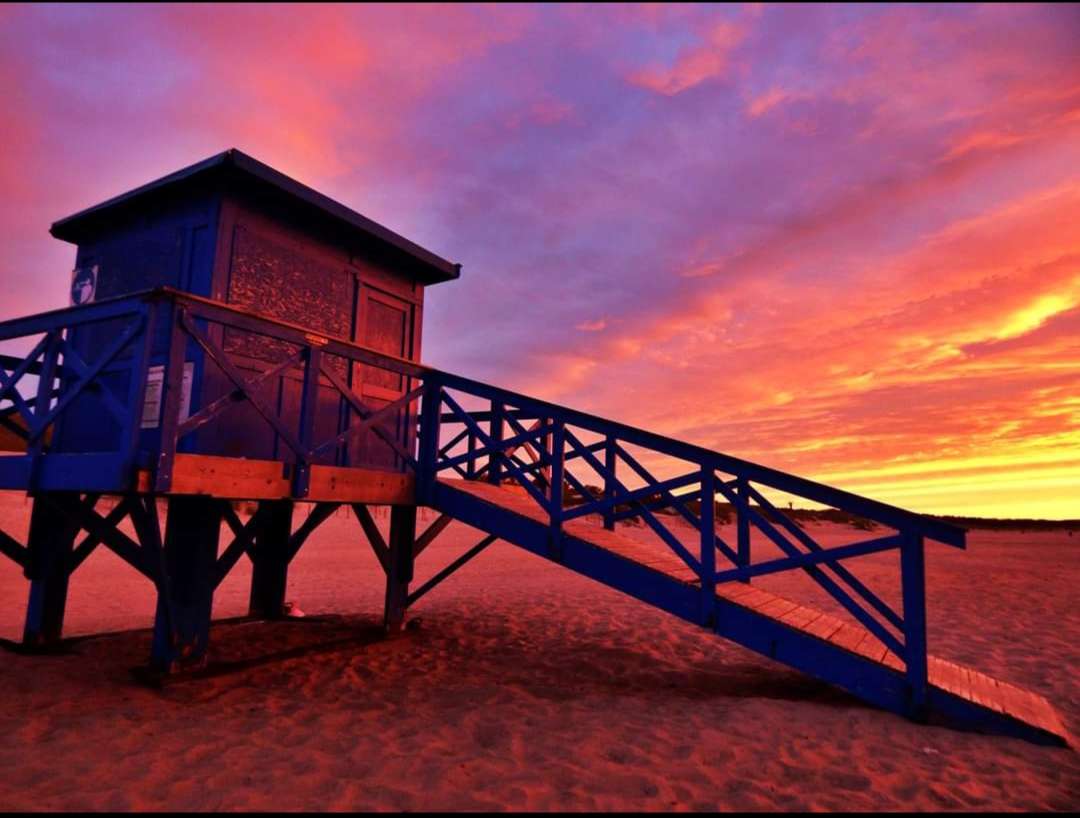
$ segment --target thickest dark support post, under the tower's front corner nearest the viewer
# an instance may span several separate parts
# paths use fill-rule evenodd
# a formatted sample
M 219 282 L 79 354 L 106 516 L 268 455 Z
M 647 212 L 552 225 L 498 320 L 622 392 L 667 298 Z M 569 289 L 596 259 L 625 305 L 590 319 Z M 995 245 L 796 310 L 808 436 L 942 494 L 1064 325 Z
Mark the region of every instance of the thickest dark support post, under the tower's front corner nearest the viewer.
M 158 580 L 150 655 L 154 670 L 171 673 L 205 661 L 220 528 L 220 500 L 199 495 L 168 499 L 165 575 Z

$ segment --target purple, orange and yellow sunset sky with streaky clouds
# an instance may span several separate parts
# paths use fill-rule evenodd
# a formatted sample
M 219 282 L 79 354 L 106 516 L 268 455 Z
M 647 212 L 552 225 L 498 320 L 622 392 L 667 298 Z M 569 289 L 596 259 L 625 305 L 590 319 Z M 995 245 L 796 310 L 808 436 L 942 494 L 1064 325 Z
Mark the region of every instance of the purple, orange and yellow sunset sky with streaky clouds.
M 426 363 L 1080 518 L 1080 6 L 0 6 L 0 318 L 238 147 L 432 251 Z

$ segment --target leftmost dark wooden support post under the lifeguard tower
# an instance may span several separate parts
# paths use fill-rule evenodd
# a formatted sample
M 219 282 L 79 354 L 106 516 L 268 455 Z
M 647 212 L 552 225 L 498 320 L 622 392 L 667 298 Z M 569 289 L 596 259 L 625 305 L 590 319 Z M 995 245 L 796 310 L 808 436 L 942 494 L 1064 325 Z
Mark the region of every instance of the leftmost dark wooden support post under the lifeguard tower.
M 23 644 L 45 647 L 60 641 L 67 606 L 69 560 L 79 534 L 79 495 L 56 493 L 35 497 L 30 511 L 26 576 L 30 599 L 26 607 Z

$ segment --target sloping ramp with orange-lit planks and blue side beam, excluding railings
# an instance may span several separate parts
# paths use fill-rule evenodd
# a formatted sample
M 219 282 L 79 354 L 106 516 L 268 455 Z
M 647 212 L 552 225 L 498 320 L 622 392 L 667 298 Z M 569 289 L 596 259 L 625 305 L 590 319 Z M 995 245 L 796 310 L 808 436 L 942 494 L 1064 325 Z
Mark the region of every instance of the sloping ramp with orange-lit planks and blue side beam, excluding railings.
M 700 577 L 672 552 L 607 531 L 599 520 L 567 524 L 562 552 L 553 553 L 546 521 L 524 492 L 478 481 L 441 480 L 433 505 L 873 705 L 1040 743 L 1069 741 L 1043 697 L 934 656 L 927 657 L 926 705 L 921 712 L 913 712 L 904 660 L 867 628 L 748 584 L 717 586 L 713 618 L 702 622 Z

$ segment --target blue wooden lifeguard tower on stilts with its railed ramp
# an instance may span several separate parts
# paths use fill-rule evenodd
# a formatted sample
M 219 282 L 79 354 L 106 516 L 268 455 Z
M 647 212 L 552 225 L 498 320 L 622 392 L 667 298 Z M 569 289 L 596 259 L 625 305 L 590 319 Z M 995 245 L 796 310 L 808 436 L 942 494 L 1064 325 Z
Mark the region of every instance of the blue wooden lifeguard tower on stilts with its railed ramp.
M 882 708 L 1068 740 L 1042 697 L 928 654 L 923 551 L 963 548 L 962 529 L 422 365 L 424 289 L 460 267 L 238 150 L 52 233 L 78 245 L 72 306 L 0 323 L 0 343 L 29 349 L 0 356 L 0 488 L 33 497 L 27 541 L 0 532 L 30 582 L 28 647 L 60 639 L 69 578 L 104 546 L 157 588 L 152 667 L 198 666 L 238 560 L 254 563 L 252 615 L 280 616 L 291 560 L 348 507 L 386 572 L 391 630 L 501 539 Z M 826 548 L 770 491 L 885 533 Z M 735 515 L 730 542 L 717 499 Z M 257 510 L 244 521 L 233 500 Z M 311 510 L 294 524 L 297 502 Z M 392 509 L 387 538 L 376 505 Z M 418 535 L 419 506 L 438 517 Z M 620 532 L 631 519 L 651 547 Z M 484 536 L 411 588 L 453 520 Z M 752 528 L 783 556 L 755 560 Z M 846 564 L 890 550 L 899 611 Z M 805 572 L 842 616 L 753 585 L 783 571 Z

